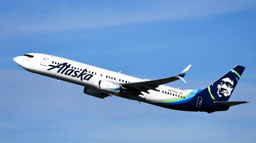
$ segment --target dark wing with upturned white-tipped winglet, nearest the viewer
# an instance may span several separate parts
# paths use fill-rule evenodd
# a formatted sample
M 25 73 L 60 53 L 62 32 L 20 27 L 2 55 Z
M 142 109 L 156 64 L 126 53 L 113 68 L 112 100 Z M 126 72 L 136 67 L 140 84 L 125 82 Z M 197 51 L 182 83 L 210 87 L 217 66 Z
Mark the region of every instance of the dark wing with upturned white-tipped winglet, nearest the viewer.
M 126 83 L 126 84 L 121 84 L 121 86 L 126 89 L 136 89 L 139 91 L 144 91 L 145 93 L 149 93 L 147 90 L 150 90 L 150 89 L 156 90 L 156 88 L 159 85 L 170 83 L 170 82 L 173 82 L 178 79 L 181 79 L 186 83 L 186 81 L 183 79 L 183 77 L 185 76 L 186 72 L 188 72 L 190 67 L 191 67 L 191 65 L 188 65 L 188 67 L 186 67 L 182 72 L 180 72 L 180 74 L 178 74 L 176 76 L 171 76 L 170 78 L 140 81 L 140 82 L 136 82 L 136 83 Z

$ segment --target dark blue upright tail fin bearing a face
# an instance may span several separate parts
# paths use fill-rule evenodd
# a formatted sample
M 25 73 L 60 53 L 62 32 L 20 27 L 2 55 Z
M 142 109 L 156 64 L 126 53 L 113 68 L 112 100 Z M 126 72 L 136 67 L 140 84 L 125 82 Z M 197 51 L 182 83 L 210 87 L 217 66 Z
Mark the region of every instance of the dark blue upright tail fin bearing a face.
M 245 67 L 237 65 L 237 67 L 230 70 L 227 74 L 216 80 L 213 84 L 208 86 L 208 91 L 211 99 L 214 101 L 228 101 L 230 95 L 235 89 Z

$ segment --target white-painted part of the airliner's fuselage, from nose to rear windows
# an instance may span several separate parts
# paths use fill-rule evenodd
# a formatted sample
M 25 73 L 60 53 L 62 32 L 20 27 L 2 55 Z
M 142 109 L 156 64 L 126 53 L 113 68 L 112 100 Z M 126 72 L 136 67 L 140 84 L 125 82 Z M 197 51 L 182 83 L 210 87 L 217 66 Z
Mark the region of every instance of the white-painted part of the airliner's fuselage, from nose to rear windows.
M 97 90 L 100 80 L 111 81 L 117 84 L 146 81 L 145 79 L 135 78 L 134 76 L 113 72 L 111 70 L 94 67 L 92 65 L 56 57 L 53 55 L 40 53 L 30 53 L 29 55 L 33 55 L 33 57 L 19 56 L 14 58 L 14 61 L 29 72 L 50 76 L 51 78 L 64 80 L 70 83 L 85 86 L 87 88 L 93 88 L 94 90 Z M 67 63 L 67 65 L 70 65 L 70 67 L 61 69 L 61 66 L 58 68 L 53 68 L 50 66 L 57 66 L 63 63 Z M 84 72 L 84 75 L 80 75 L 84 69 L 86 69 L 86 72 Z M 160 100 L 174 100 L 180 97 L 182 98 L 191 91 L 180 90 L 165 85 L 159 85 L 156 89 L 158 91 L 147 90 L 149 93 L 142 92 L 143 95 L 137 95 L 139 97 L 134 96 L 131 93 L 125 95 L 124 93 L 119 93 L 115 95 L 132 100 L 144 101 L 146 103 L 156 103 Z

